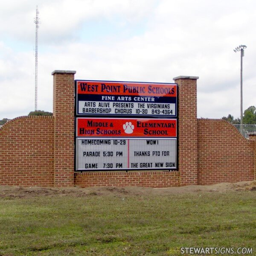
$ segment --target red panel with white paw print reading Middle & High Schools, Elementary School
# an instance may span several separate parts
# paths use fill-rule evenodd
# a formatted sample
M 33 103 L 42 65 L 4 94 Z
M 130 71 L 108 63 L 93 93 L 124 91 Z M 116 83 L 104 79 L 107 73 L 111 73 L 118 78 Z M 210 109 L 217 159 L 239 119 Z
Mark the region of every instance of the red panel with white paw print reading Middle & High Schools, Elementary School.
M 177 137 L 176 119 L 77 118 L 77 137 Z

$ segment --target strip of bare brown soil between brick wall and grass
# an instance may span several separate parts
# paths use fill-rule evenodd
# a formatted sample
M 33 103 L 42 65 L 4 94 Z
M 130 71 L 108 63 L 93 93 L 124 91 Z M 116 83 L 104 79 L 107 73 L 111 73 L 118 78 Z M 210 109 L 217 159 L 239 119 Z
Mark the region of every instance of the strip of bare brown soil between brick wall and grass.
M 37 195 L 60 195 L 60 196 L 90 196 L 90 195 L 170 195 L 181 193 L 216 192 L 228 191 L 256 191 L 256 180 L 241 181 L 237 183 L 219 183 L 215 185 L 190 185 L 173 188 L 146 188 L 139 186 L 129 187 L 90 187 L 90 188 L 43 188 L 0 186 L 0 198 L 30 198 Z

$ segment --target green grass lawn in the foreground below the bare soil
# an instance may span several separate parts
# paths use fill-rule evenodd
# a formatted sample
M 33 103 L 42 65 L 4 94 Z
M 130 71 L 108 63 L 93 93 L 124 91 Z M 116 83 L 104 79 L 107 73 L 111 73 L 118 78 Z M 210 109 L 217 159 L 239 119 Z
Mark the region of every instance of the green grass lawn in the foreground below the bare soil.
M 253 247 L 256 192 L 0 199 L 0 255 L 180 255 Z

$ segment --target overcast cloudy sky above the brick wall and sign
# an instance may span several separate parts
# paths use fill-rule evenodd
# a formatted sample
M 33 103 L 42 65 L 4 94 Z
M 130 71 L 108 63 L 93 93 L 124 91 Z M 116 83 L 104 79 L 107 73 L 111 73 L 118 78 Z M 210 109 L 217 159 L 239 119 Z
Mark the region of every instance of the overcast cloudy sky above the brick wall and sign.
M 254 0 L 9 0 L 0 3 L 0 119 L 52 112 L 53 70 L 75 79 L 174 82 L 199 76 L 198 118 L 240 116 L 256 105 Z

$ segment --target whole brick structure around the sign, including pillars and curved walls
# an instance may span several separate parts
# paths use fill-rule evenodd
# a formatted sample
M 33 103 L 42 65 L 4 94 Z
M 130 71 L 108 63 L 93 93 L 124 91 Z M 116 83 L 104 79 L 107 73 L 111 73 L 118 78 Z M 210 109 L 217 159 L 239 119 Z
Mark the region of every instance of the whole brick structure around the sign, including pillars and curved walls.
M 179 85 L 179 172 L 74 174 L 74 74 L 55 70 L 53 117 L 23 116 L 0 128 L 0 184 L 23 186 L 169 187 L 253 180 L 256 142 L 228 122 L 197 119 L 198 77 Z

